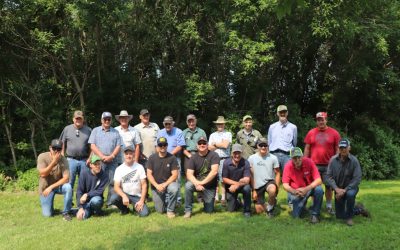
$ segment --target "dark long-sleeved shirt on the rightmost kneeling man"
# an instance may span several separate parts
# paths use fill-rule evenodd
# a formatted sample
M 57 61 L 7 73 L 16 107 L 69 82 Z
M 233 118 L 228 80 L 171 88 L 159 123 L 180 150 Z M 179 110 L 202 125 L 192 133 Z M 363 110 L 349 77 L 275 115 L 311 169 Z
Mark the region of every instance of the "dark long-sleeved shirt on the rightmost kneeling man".
M 346 190 L 357 188 L 362 177 L 360 163 L 352 154 L 349 154 L 342 162 L 337 154 L 329 162 L 327 176 L 329 186 L 333 189 L 337 187 Z

